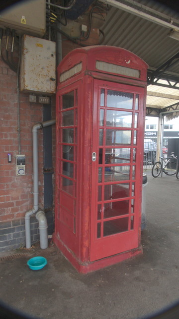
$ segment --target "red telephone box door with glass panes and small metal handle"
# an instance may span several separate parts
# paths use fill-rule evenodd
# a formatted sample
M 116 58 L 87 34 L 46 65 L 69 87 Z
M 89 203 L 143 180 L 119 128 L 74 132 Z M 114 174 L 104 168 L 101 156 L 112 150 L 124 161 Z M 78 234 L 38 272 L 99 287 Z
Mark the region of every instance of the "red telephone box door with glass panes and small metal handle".
M 94 80 L 90 261 L 140 245 L 144 92 Z

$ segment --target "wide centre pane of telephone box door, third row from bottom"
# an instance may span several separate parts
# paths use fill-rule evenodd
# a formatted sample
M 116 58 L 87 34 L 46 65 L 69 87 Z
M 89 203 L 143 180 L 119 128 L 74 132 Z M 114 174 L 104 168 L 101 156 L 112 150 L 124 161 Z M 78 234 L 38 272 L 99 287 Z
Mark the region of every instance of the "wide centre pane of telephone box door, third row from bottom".
M 104 186 L 104 200 L 129 197 L 129 183 Z

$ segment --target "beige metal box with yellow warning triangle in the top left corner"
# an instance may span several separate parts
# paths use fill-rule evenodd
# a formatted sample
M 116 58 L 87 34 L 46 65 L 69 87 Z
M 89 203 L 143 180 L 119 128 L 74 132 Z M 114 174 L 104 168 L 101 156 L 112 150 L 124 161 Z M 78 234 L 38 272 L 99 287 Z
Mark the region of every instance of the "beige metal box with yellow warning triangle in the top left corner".
M 0 11 L 0 27 L 15 29 L 17 34 L 45 34 L 45 0 L 18 1 Z

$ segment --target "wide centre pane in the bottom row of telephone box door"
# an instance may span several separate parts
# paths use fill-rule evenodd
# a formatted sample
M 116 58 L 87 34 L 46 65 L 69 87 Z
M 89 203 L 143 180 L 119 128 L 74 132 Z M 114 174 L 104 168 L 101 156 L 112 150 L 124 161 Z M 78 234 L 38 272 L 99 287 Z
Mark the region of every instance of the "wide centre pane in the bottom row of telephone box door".
M 128 217 L 104 222 L 104 237 L 126 231 L 128 231 Z

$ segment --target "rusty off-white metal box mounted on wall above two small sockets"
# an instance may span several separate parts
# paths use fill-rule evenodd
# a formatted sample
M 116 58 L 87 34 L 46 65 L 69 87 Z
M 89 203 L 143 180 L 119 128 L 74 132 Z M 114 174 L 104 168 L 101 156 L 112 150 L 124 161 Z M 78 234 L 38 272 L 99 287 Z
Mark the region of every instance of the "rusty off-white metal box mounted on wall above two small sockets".
M 56 92 L 55 42 L 23 36 L 20 90 L 46 94 Z

